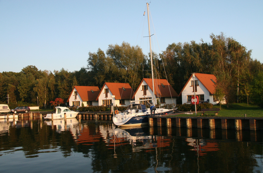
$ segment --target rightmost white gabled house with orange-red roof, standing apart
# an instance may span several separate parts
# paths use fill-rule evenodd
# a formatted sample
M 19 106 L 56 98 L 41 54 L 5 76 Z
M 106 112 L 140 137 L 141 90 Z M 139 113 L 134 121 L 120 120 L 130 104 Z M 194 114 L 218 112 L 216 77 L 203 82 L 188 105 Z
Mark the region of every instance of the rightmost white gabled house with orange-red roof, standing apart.
M 195 95 L 198 96 L 199 103 L 209 102 L 217 104 L 213 98 L 215 93 L 215 83 L 216 77 L 214 75 L 195 73 L 195 78 L 193 78 L 193 74 L 191 74 L 184 88 L 179 93 L 179 96 L 182 96 L 182 103 L 191 103 L 191 97 L 194 96 L 195 91 Z

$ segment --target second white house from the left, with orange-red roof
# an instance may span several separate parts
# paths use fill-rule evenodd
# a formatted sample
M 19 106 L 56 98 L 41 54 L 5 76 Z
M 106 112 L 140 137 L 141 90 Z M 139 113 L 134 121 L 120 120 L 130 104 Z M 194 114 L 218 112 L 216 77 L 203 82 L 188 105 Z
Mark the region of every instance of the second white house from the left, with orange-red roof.
M 96 101 L 99 102 L 99 106 L 108 106 L 111 103 L 116 106 L 128 106 L 133 94 L 134 91 L 128 83 L 105 82 Z

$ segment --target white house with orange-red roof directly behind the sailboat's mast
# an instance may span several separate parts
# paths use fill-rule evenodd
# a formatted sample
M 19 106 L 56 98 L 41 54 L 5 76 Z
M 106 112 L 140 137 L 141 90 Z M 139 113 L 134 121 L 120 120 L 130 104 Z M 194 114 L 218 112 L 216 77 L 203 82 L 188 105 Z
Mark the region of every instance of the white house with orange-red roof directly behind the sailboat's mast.
M 166 79 L 154 79 L 154 93 L 155 105 L 157 104 L 157 99 L 161 103 L 161 106 L 173 103 L 176 104 L 178 94 Z M 143 100 L 153 98 L 153 80 L 150 78 L 143 78 L 133 98 L 134 100 L 142 100 L 140 103 L 146 105 L 147 101 Z M 151 101 L 149 102 L 152 103 Z

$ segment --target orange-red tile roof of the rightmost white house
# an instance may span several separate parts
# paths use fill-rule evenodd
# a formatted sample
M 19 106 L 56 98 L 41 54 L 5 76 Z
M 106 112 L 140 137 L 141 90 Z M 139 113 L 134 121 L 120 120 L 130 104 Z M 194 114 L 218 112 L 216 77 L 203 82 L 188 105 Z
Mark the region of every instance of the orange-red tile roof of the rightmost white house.
M 210 74 L 203 74 L 203 73 L 195 73 L 195 77 L 198 78 L 199 82 L 201 82 L 205 88 L 209 91 L 209 93 L 211 95 L 214 95 L 215 92 L 215 83 L 216 82 L 216 77 L 215 75 L 210 75 Z M 186 85 L 188 84 L 188 82 L 190 80 L 193 80 L 193 74 L 190 76 L 190 78 L 188 79 L 188 81 L 186 82 L 184 88 L 186 87 Z M 214 82 L 213 82 L 213 81 Z M 182 94 L 184 88 L 182 89 L 182 91 L 179 93 L 179 96 Z

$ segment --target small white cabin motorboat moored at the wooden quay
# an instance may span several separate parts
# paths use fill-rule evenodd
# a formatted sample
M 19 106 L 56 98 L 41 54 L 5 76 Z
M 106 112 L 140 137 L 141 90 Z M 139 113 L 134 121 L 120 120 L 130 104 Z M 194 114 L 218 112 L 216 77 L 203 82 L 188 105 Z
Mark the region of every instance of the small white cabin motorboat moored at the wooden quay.
M 69 108 L 67 107 L 55 107 L 56 108 L 56 113 L 53 114 L 53 119 L 63 119 L 64 118 L 64 113 L 66 113 L 66 118 L 76 118 L 76 116 L 78 115 L 78 112 L 75 111 L 71 111 L 69 110 Z M 52 114 L 49 113 L 47 114 L 46 117 L 44 117 L 45 119 L 51 119 Z

